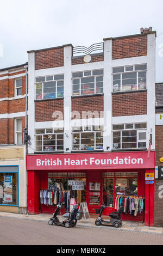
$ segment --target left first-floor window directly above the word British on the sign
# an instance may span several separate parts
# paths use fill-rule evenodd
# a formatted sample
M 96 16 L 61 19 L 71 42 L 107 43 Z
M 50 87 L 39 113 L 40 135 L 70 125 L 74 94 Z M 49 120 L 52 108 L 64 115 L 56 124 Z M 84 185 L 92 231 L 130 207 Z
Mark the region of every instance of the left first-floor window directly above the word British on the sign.
M 35 151 L 62 150 L 64 150 L 64 130 L 62 128 L 35 130 Z

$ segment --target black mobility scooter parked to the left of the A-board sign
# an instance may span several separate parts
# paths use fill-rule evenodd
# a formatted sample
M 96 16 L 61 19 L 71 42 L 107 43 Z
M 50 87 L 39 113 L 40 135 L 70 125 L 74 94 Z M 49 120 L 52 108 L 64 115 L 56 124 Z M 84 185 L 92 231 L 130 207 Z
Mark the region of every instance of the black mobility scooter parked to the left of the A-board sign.
M 57 209 L 55 210 L 53 214 L 53 218 L 50 218 L 48 221 L 49 225 L 60 225 L 64 226 L 66 228 L 75 227 L 78 220 L 82 219 L 83 211 L 78 211 L 78 204 L 74 205 L 74 208 L 71 210 L 71 212 L 66 212 L 66 214 L 62 215 L 62 217 L 65 218 L 64 221 L 60 222 L 57 215 L 59 215 L 59 211 L 61 209 L 61 205 L 57 205 Z

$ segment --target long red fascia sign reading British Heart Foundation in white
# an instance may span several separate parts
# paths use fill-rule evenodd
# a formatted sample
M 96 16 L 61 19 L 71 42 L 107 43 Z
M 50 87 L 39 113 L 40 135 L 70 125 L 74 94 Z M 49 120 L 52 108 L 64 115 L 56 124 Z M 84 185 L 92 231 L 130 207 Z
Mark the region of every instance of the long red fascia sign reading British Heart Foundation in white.
M 27 170 L 153 169 L 155 151 L 27 155 Z

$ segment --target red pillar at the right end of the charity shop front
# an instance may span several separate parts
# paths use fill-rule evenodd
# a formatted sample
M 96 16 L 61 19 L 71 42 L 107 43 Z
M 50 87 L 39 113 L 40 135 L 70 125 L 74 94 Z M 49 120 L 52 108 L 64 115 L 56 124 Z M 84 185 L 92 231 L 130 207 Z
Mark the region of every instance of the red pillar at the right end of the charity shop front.
M 154 169 L 146 170 L 146 173 L 154 173 Z M 149 194 L 150 194 L 150 197 L 149 197 Z M 151 185 L 145 184 L 145 196 L 146 196 L 145 225 L 154 227 L 154 184 L 151 184 Z

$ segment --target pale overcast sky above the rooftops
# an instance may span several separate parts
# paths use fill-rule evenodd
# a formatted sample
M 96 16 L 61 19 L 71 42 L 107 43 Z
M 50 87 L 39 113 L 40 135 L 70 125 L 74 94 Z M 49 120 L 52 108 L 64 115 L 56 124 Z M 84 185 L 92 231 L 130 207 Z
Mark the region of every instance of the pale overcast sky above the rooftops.
M 0 69 L 28 61 L 28 50 L 102 42 L 153 27 L 156 82 L 163 82 L 162 0 L 0 0 Z

